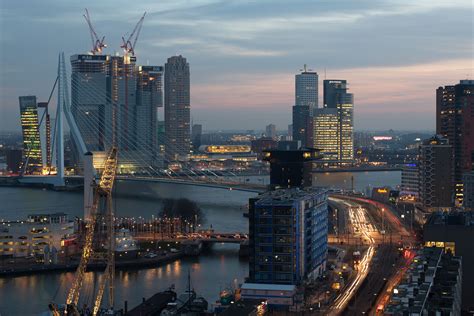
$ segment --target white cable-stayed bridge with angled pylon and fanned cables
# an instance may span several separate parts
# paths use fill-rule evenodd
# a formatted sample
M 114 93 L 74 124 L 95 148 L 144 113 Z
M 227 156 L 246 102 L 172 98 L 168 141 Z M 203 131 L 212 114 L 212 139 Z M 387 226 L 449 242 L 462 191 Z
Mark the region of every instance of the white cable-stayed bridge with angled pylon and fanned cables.
M 157 132 L 149 130 L 156 127 L 156 124 L 150 124 L 153 120 L 156 123 L 156 108 L 153 113 L 150 112 L 153 111 L 153 107 L 145 109 L 140 109 L 138 106 L 129 107 L 126 96 L 121 95 L 120 91 L 126 92 L 131 86 L 127 80 L 133 81 L 132 85 L 136 84 L 134 81 L 136 78 L 127 79 L 127 70 L 124 71 L 121 79 L 115 82 L 117 91 L 114 95 L 113 92 L 108 93 L 104 89 L 105 83 L 97 84 L 98 81 L 94 81 L 90 75 L 68 76 L 64 54 L 59 55 L 57 110 L 51 148 L 56 173 L 25 174 L 20 182 L 64 187 L 68 182 L 66 179 L 80 178 L 80 176 L 65 177 L 64 122 L 66 122 L 77 162 L 83 166 L 84 155 L 92 152 L 94 172 L 100 171 L 105 153 L 114 146 L 118 148 L 118 166 L 135 167 L 135 171 L 131 173 L 121 173 L 119 168 L 117 174 L 119 180 L 174 183 L 247 192 L 261 192 L 265 189 L 264 185 L 242 180 L 231 171 L 223 170 L 216 173 L 212 170 L 195 169 L 186 159 L 175 160 L 160 152 L 159 145 L 170 152 L 189 152 L 189 148 L 181 148 L 177 142 L 168 139 L 165 133 L 158 135 Z M 72 98 L 69 82 L 73 92 Z M 143 93 L 141 96 L 141 98 L 147 97 L 150 98 L 151 95 Z M 142 113 L 137 114 L 139 111 Z M 166 167 L 169 165 L 179 165 L 179 172 Z

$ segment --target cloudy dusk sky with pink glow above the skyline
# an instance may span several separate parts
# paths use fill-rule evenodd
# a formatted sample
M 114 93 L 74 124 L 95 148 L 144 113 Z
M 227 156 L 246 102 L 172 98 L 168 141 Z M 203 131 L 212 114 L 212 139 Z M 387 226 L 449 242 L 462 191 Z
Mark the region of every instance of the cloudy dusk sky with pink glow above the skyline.
M 286 130 L 294 75 L 346 79 L 356 130 L 434 130 L 435 90 L 474 79 L 472 0 L 22 0 L 0 2 L 0 131 L 19 130 L 18 96 L 46 100 L 58 53 L 85 53 L 88 8 L 106 53 L 147 12 L 139 64 L 191 69 L 204 130 Z M 162 114 L 161 118 L 163 117 Z

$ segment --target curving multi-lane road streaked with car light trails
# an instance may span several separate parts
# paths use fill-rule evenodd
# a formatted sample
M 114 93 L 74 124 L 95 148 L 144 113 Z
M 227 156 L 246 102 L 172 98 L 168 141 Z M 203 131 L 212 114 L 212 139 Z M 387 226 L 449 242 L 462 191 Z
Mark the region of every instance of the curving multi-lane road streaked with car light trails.
M 376 306 L 384 304 L 387 291 L 399 282 L 403 270 L 410 262 L 410 252 L 400 259 L 397 248 L 416 244 L 411 232 L 383 203 L 364 198 L 331 196 L 347 214 L 344 232 L 351 237 L 348 241 L 366 245 L 356 275 L 336 297 L 329 315 L 360 315 L 375 312 Z M 344 236 L 339 236 L 344 241 Z M 348 242 L 353 244 L 353 242 Z

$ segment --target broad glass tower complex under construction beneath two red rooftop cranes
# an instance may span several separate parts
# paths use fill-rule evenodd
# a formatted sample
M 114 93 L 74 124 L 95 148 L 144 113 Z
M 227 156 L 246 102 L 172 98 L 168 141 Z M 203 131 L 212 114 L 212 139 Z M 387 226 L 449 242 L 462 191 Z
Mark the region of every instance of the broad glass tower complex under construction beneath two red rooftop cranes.
M 73 55 L 71 66 L 71 109 L 87 149 L 117 146 L 123 173 L 159 166 L 163 67 L 137 67 L 129 55 Z M 75 156 L 80 161 L 82 155 Z

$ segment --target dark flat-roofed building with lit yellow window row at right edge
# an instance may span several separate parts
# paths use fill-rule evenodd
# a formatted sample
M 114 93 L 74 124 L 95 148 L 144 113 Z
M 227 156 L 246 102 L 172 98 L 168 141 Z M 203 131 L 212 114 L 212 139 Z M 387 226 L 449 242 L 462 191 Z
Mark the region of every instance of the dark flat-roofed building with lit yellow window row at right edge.
M 471 312 L 474 311 L 473 239 L 473 212 L 435 212 L 430 214 L 423 226 L 425 246 L 443 248 L 446 252 L 462 257 L 462 309 Z

